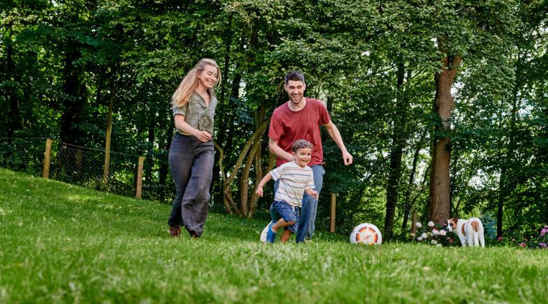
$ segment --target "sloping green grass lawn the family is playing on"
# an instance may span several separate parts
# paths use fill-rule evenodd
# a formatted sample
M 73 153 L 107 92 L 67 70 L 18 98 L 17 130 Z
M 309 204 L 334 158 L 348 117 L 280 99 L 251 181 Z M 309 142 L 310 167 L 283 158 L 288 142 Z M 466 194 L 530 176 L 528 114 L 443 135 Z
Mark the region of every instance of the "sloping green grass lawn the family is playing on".
M 548 252 L 258 242 L 264 221 L 209 214 L 168 237 L 170 206 L 0 169 L 0 303 L 547 303 Z

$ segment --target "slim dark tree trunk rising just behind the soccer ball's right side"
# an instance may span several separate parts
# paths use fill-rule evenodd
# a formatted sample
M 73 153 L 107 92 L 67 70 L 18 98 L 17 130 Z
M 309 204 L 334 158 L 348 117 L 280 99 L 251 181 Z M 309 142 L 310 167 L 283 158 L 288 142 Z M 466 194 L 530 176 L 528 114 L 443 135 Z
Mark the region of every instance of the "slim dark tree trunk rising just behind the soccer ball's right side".
M 384 238 L 390 241 L 394 231 L 394 215 L 398 204 L 399 184 L 401 179 L 401 158 L 403 155 L 403 146 L 405 138 L 403 132 L 406 124 L 406 102 L 403 94 L 403 79 L 405 77 L 405 66 L 401 55 L 398 60 L 397 71 L 397 104 L 394 109 L 394 119 L 392 128 L 392 146 L 390 147 L 390 172 L 388 174 L 388 184 L 386 189 L 386 216 Z

